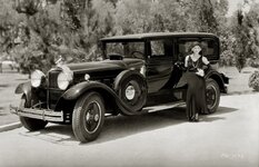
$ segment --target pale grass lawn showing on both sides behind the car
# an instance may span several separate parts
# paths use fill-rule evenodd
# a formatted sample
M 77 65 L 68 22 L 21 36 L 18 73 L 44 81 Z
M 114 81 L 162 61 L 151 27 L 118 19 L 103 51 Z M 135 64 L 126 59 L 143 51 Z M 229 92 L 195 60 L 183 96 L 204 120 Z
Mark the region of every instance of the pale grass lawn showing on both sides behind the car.
M 220 68 L 230 78 L 228 94 L 251 94 L 253 90 L 248 87 L 249 76 L 255 68 L 247 67 L 241 73 L 235 67 Z M 19 120 L 18 116 L 11 115 L 9 111 L 10 104 L 19 105 L 20 95 L 14 95 L 14 89 L 20 82 L 28 80 L 28 75 L 20 75 L 14 71 L 3 71 L 0 73 L 0 126 Z

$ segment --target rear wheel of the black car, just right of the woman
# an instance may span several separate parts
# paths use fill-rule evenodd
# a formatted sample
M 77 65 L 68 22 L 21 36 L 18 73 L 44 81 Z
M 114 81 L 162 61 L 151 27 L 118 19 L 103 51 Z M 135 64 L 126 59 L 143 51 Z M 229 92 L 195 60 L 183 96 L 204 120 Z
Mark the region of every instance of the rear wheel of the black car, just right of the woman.
M 213 79 L 206 80 L 206 102 L 208 114 L 213 114 L 219 107 L 220 90 L 219 85 Z

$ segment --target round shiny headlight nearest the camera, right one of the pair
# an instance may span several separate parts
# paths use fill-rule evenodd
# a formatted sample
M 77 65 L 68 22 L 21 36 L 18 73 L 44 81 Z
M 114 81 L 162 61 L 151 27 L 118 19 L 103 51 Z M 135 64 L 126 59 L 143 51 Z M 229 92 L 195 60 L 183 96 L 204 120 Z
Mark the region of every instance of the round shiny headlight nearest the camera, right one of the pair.
M 72 81 L 73 75 L 70 70 L 63 70 L 58 76 L 58 87 L 61 90 L 66 90 L 70 82 Z

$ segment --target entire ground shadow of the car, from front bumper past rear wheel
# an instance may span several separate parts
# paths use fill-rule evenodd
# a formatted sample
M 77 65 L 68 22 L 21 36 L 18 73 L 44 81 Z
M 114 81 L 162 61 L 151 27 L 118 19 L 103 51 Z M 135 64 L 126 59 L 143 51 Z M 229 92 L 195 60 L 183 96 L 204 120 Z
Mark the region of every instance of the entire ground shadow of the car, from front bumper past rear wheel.
M 212 115 L 202 115 L 201 121 L 212 122 L 220 119 L 223 114 L 237 111 L 235 108 L 219 107 Z M 172 109 L 160 110 L 157 112 L 145 114 L 140 116 L 112 116 L 106 118 L 100 136 L 91 143 L 80 145 L 96 145 L 116 140 L 131 135 L 166 128 L 179 124 L 186 124 L 186 108 L 177 107 Z M 66 145 L 66 143 L 77 141 L 71 125 L 51 125 L 37 132 L 23 132 L 26 136 L 40 138 L 54 144 Z

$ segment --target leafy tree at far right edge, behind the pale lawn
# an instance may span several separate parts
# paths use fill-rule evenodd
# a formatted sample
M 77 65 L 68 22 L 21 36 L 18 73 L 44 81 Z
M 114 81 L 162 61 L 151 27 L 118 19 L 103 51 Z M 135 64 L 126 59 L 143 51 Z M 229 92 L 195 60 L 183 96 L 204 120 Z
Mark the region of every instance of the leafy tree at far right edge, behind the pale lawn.
M 249 6 L 245 12 L 243 7 Z M 246 66 L 248 58 L 258 58 L 258 8 L 259 4 L 246 1 L 240 6 L 232 20 L 232 33 L 235 35 L 233 53 L 236 55 L 237 68 L 239 71 Z

